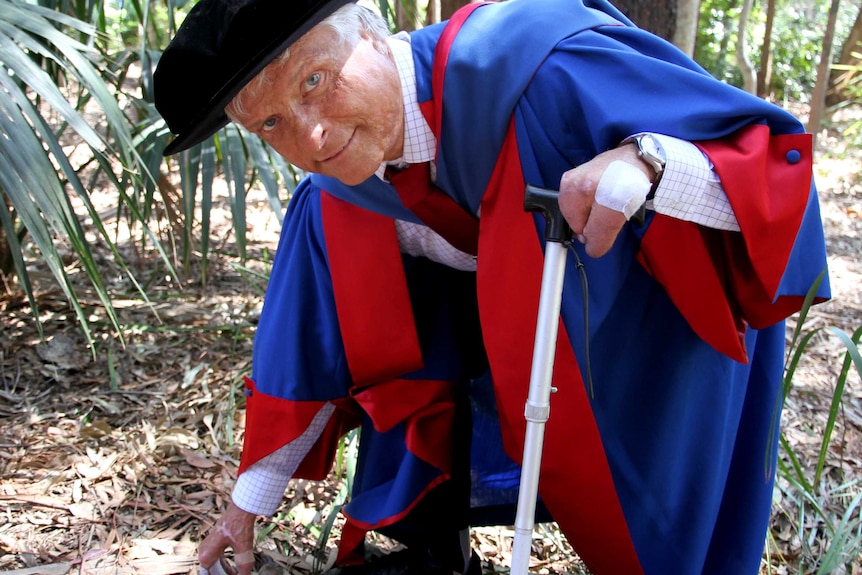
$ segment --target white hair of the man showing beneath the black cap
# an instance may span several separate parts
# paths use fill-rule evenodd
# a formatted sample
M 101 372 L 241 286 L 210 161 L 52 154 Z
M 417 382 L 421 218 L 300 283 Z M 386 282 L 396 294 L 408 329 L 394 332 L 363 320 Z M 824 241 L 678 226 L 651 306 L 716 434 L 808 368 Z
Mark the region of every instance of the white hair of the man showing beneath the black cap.
M 370 38 L 376 46 L 386 46 L 386 38 L 389 36 L 389 27 L 379 14 L 350 2 L 345 4 L 323 20 L 317 26 L 324 26 L 336 33 L 336 41 L 356 43 L 363 36 Z M 387 49 L 388 48 L 384 48 Z M 272 75 L 267 71 L 271 66 L 280 67 L 284 65 L 287 59 L 290 58 L 290 47 L 285 48 L 284 52 L 276 56 L 272 62 L 258 72 L 257 76 L 246 84 L 242 90 L 234 96 L 228 105 L 225 107 L 225 113 L 231 120 L 238 116 L 245 115 L 245 99 L 247 97 L 254 98 L 260 89 L 273 82 Z M 273 67 L 275 67 L 273 66 Z

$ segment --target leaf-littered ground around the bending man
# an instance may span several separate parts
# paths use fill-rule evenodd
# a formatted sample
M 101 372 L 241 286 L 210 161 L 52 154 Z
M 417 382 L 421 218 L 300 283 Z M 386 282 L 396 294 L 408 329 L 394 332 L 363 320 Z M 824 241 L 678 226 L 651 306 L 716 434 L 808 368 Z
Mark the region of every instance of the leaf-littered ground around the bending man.
M 855 114 L 838 118 L 818 138 L 816 180 L 834 299 L 812 310 L 804 333 L 834 326 L 852 334 L 862 327 L 862 154 L 840 133 L 860 117 Z M 95 199 L 106 209 L 114 201 L 107 191 Z M 228 255 L 229 226 L 222 225 L 215 238 L 222 255 L 210 258 L 205 286 L 178 283 L 155 256 L 131 257 L 131 247 L 123 245 L 133 272 L 149 285 L 151 305 L 130 291 L 127 299 L 118 297 L 124 329 L 117 334 L 99 301 L 85 295 L 95 326 L 92 348 L 38 260 L 32 269 L 44 337 L 20 293 L 0 294 L 0 572 L 196 572 L 196 543 L 218 517 L 235 478 L 244 428 L 242 377 L 250 369 L 263 293 L 255 271 L 266 270 L 277 239 L 278 222 L 265 200 L 252 195 L 249 202 L 250 258 Z M 110 256 L 100 257 L 104 277 L 124 289 Z M 75 262 L 67 263 L 74 272 Z M 808 478 L 842 354 L 835 335 L 818 331 L 787 399 L 782 425 L 788 449 Z M 826 544 L 837 538 L 829 518 L 838 523 L 849 509 L 858 526 L 851 499 L 859 493 L 862 460 L 860 387 L 851 371 L 823 479 L 813 488 L 824 515 L 800 506 L 792 474 L 779 474 L 763 573 L 814 572 L 811 565 L 823 565 Z M 787 451 L 782 460 L 789 461 Z M 291 484 L 275 517 L 259 522 L 261 572 L 312 573 L 331 562 L 327 519 L 343 497 L 342 476 L 336 469 L 327 482 Z M 333 531 L 338 526 L 336 520 Z M 487 572 L 507 569 L 511 537 L 506 528 L 473 533 Z M 325 545 L 318 547 L 319 540 Z M 852 533 L 843 550 L 833 572 L 862 573 Z M 536 572 L 584 572 L 553 525 L 537 529 L 534 557 Z

